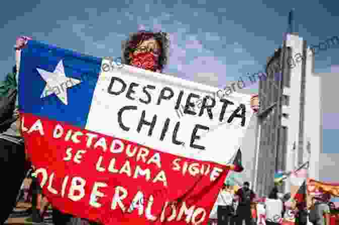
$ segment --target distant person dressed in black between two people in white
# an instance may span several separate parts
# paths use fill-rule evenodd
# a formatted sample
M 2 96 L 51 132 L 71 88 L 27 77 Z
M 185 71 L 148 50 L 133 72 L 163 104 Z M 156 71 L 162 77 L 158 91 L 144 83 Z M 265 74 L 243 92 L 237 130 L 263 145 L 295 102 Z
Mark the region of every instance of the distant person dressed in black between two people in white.
M 243 220 L 245 220 L 246 225 L 252 225 L 251 203 L 255 198 L 255 193 L 250 189 L 250 183 L 244 182 L 243 187 L 235 194 L 237 198 L 239 198 L 239 205 L 237 207 L 237 225 L 242 225 Z

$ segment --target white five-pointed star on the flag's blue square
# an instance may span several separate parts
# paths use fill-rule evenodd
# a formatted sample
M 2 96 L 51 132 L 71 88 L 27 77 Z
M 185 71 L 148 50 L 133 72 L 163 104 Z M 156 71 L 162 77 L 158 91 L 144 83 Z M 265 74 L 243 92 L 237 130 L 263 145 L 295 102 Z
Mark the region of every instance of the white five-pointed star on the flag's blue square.
M 55 94 L 65 104 L 67 101 L 67 88 L 73 87 L 81 83 L 81 80 L 66 77 L 63 61 L 61 60 L 53 72 L 45 71 L 36 68 L 41 77 L 46 81 L 46 86 L 40 98 L 47 97 L 50 94 Z

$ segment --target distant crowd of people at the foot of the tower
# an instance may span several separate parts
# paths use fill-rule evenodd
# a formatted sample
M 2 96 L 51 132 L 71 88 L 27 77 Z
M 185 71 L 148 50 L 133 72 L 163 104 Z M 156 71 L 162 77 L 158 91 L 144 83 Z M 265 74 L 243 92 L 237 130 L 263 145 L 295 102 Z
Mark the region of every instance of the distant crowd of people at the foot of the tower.
M 333 202 L 330 202 L 330 195 L 324 193 L 312 197 L 312 205 L 308 208 L 305 201 L 297 202 L 295 207 L 285 204 L 290 198 L 290 194 L 281 194 L 274 186 L 269 195 L 265 198 L 258 198 L 249 188 L 249 182 L 244 182 L 237 191 L 230 184 L 225 183 L 217 197 L 215 204 L 217 219 L 211 219 L 211 224 L 217 225 L 242 225 L 245 220 L 246 225 L 281 224 L 284 218 L 295 218 L 296 225 L 306 225 L 308 221 L 313 225 L 329 225 L 331 212 L 338 210 Z M 258 217 L 259 207 L 264 209 L 264 216 Z M 212 211 L 213 213 L 213 211 Z M 334 224 L 339 223 L 339 216 L 333 218 Z

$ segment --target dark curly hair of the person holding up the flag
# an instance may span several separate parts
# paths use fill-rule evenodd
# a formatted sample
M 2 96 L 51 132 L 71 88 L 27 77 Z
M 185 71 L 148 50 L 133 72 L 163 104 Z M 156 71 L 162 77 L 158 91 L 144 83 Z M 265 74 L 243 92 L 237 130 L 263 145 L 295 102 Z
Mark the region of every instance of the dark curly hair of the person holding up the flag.
M 169 40 L 167 33 L 164 32 L 152 32 L 141 30 L 136 33 L 130 34 L 130 37 L 122 43 L 123 59 L 122 63 L 130 65 L 130 53 L 133 53 L 142 41 L 154 38 L 161 46 L 161 52 L 159 55 L 159 67 L 162 70 L 167 65 Z

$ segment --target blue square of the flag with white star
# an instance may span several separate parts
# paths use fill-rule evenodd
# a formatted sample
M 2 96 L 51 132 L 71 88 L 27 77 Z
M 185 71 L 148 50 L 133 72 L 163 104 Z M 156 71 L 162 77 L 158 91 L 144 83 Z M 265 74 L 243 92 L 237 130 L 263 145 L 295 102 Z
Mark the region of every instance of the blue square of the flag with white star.
M 84 128 L 100 67 L 99 58 L 29 41 L 21 52 L 20 110 Z

